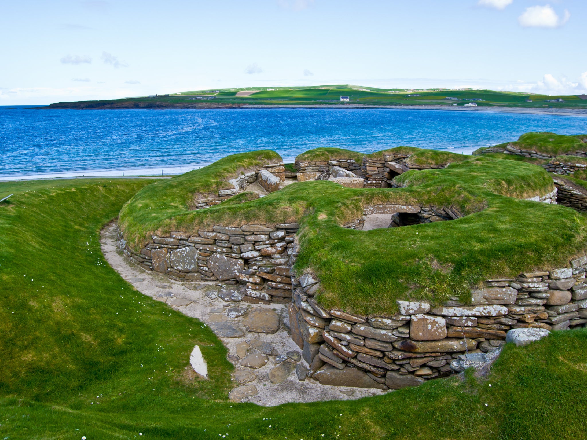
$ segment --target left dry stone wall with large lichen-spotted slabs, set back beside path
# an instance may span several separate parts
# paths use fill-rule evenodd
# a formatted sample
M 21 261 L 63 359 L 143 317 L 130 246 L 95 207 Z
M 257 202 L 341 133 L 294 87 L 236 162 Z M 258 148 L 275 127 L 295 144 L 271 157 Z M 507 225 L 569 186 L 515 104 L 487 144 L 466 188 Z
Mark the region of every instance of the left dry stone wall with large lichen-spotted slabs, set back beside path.
M 296 257 L 296 223 L 215 225 L 212 231 L 153 236 L 134 252 L 119 232 L 118 245 L 131 261 L 146 270 L 165 273 L 177 281 L 222 281 L 239 285 L 230 300 L 289 302 L 289 267 Z M 245 299 L 245 297 L 248 297 Z M 224 299 L 224 298 L 223 298 Z

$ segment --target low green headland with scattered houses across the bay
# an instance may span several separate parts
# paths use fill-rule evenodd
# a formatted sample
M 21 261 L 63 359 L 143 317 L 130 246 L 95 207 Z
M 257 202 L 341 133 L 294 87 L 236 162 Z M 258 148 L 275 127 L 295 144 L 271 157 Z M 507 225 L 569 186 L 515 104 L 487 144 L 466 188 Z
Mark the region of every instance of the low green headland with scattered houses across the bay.
M 238 92 L 255 91 L 249 96 L 237 96 Z M 205 99 L 198 99 L 197 97 Z M 349 102 L 340 101 L 348 96 Z M 447 98 L 455 98 L 447 99 Z M 561 102 L 547 102 L 562 99 Z M 530 102 L 528 102 L 530 101 Z M 133 109 L 133 108 L 218 108 L 247 105 L 312 105 L 361 104 L 365 106 L 464 106 L 476 103 L 478 107 L 528 107 L 587 109 L 587 99 L 578 96 L 548 96 L 495 90 L 443 90 L 423 91 L 403 89 L 376 89 L 352 85 L 328 85 L 311 87 L 247 87 L 241 89 L 193 90 L 156 97 L 137 97 L 117 100 L 80 101 L 55 103 L 48 109 Z

